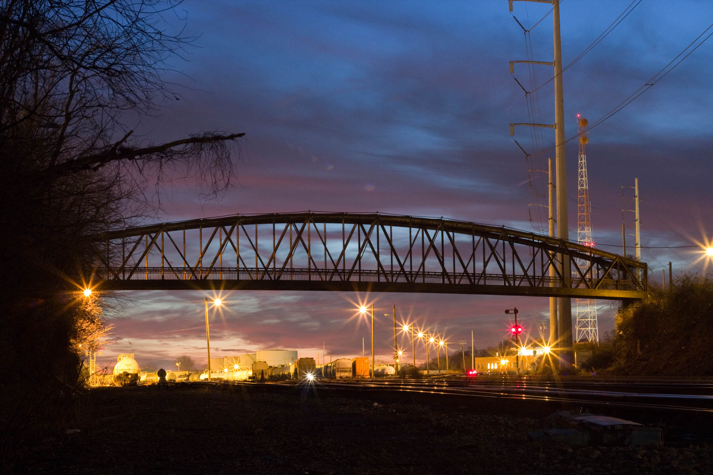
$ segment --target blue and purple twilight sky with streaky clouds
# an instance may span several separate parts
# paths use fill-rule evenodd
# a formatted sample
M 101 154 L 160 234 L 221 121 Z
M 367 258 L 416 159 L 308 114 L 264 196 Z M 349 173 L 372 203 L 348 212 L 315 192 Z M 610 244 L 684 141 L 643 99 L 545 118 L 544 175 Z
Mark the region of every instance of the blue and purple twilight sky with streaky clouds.
M 709 1 L 644 0 L 563 75 L 565 135 L 575 115 L 595 122 L 684 51 L 713 23 Z M 629 1 L 561 2 L 563 64 L 604 32 Z M 552 61 L 551 15 L 530 32 L 503 1 L 236 1 L 188 0 L 180 15 L 200 34 L 181 74 L 180 100 L 154 118 L 128 124 L 155 142 L 200 130 L 246 132 L 239 184 L 205 202 L 183 182 L 166 187 L 160 221 L 236 213 L 387 212 L 506 225 L 546 227 L 546 169 L 554 133 L 509 122 L 554 122 L 553 83 L 530 95 L 508 61 Z M 513 14 L 531 28 L 549 11 L 516 1 Z M 168 21 L 180 23 L 178 19 Z M 708 30 L 705 38 L 713 30 Z M 704 43 L 634 102 L 590 132 L 587 148 L 592 225 L 597 247 L 621 253 L 622 214 L 633 232 L 633 186 L 639 179 L 642 260 L 650 281 L 673 262 L 674 273 L 701 272 L 707 261 L 691 246 L 713 237 L 709 114 L 713 105 L 713 41 Z M 528 90 L 552 68 L 515 66 Z M 533 115 L 534 114 L 534 115 Z M 577 157 L 567 145 L 570 239 L 576 239 Z M 544 179 L 543 179 L 544 178 Z M 533 221 L 530 221 L 530 215 Z M 544 216 L 544 220 L 542 217 Z M 546 232 L 546 231 L 545 231 Z M 627 236 L 631 251 L 633 236 Z M 668 248 L 668 249 L 667 249 Z M 170 367 L 188 354 L 205 364 L 203 293 L 133 292 L 108 316 L 116 343 L 99 359 L 135 353 L 140 365 Z M 324 341 L 334 357 L 361 355 L 369 328 L 354 317 L 357 301 L 374 301 L 376 353 L 389 358 L 390 318 L 439 333 L 457 348 L 476 348 L 507 333 L 505 308 L 517 306 L 525 332 L 537 335 L 546 298 L 417 294 L 241 291 L 223 296 L 211 320 L 212 355 L 287 348 L 316 356 Z M 617 303 L 599 301 L 600 335 L 611 330 Z M 574 313 L 574 312 L 573 312 Z M 391 343 L 389 341 L 391 340 Z M 468 343 L 469 344 L 469 343 Z M 404 345 L 406 340 L 404 339 Z M 410 342 L 408 344 L 410 348 Z M 417 359 L 424 359 L 417 345 Z M 368 353 L 368 351 L 367 351 Z M 407 358 L 411 354 L 407 352 Z M 329 356 L 327 356 L 329 357 Z

